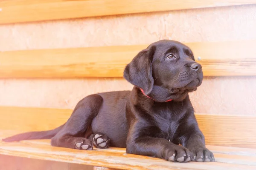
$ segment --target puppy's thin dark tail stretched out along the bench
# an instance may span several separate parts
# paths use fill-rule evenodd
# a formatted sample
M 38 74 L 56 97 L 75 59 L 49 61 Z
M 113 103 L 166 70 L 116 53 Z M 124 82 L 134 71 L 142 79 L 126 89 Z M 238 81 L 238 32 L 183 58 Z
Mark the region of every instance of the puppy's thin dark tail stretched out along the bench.
M 55 136 L 62 129 L 63 126 L 64 124 L 53 130 L 47 130 L 47 131 L 20 133 L 2 140 L 5 142 L 12 142 L 12 141 L 22 141 L 22 140 L 31 140 L 31 139 L 50 139 L 53 136 Z

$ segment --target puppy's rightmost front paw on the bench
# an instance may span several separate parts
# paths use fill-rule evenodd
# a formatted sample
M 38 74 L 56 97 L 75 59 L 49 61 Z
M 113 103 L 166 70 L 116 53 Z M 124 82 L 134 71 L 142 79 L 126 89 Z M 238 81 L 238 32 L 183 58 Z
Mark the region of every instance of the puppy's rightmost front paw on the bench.
M 213 153 L 209 151 L 206 147 L 202 148 L 196 148 L 190 150 L 191 152 L 191 158 L 192 161 L 197 161 L 197 162 L 214 162 L 215 158 L 213 156 Z

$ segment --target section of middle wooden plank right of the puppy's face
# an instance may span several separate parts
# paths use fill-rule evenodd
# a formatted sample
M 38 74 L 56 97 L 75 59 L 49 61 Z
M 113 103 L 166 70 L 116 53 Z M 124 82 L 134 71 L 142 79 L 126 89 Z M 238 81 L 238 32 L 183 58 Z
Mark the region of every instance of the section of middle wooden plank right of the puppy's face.
M 201 57 L 205 76 L 256 75 L 256 40 L 186 43 L 194 52 L 195 59 Z M 254 69 L 255 68 L 255 69 Z

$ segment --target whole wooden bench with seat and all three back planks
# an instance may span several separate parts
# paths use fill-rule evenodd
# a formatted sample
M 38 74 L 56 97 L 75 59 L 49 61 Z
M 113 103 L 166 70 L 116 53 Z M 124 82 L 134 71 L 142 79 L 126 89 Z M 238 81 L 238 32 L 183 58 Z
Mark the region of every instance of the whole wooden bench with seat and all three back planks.
M 256 0 L 0 0 L 0 24 L 255 3 Z M 186 45 L 203 65 L 204 76 L 255 76 L 255 43 L 256 40 L 245 40 Z M 125 65 L 146 46 L 0 51 L 0 78 L 120 78 Z M 0 139 L 53 129 L 67 121 L 71 112 L 70 109 L 0 107 Z M 126 154 L 125 148 L 73 150 L 51 147 L 49 140 L 0 141 L 0 170 L 256 169 L 256 116 L 196 114 L 196 118 L 216 162 L 173 163 Z

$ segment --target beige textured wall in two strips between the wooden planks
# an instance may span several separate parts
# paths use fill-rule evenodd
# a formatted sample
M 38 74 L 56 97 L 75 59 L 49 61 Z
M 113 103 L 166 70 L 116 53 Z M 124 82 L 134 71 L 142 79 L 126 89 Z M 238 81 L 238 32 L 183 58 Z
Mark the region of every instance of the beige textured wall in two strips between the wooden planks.
M 256 5 L 189 9 L 0 25 L 0 51 L 149 44 L 160 39 L 255 40 L 255 30 Z M 190 96 L 198 113 L 256 115 L 255 86 L 256 77 L 205 78 Z M 6 79 L 0 80 L 0 105 L 73 109 L 86 95 L 131 88 L 121 78 Z

